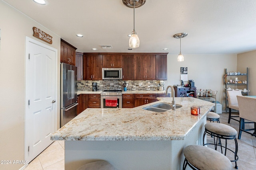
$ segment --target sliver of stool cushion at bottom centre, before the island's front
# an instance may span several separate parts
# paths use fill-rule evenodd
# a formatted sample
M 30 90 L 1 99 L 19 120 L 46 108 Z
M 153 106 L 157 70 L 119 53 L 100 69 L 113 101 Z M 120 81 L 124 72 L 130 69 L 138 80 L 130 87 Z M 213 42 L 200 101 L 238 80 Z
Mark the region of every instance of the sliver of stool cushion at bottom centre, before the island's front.
M 76 170 L 116 170 L 116 168 L 110 163 L 100 160 L 85 164 Z

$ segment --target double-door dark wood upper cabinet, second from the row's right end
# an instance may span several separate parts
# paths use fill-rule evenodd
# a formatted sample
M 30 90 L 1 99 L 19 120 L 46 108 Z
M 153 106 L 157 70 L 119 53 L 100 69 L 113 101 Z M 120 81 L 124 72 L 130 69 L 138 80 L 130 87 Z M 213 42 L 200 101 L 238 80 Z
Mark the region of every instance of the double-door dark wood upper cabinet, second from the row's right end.
M 135 55 L 135 80 L 156 80 L 156 55 Z

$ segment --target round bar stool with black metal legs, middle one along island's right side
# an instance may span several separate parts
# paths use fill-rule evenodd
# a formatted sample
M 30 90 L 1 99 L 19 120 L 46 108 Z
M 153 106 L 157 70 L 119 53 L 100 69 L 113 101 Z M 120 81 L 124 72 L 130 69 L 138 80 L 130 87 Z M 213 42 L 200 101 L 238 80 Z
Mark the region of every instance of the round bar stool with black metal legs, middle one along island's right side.
M 223 150 L 222 148 L 225 148 L 225 153 L 224 155 L 226 156 L 227 150 L 230 150 L 231 152 L 234 153 L 234 160 L 230 160 L 231 162 L 235 162 L 238 161 L 238 156 L 237 156 L 237 152 L 238 152 L 238 143 L 236 140 L 236 134 L 237 131 L 236 129 L 234 129 L 231 126 L 222 124 L 222 123 L 206 123 L 204 125 L 205 131 L 204 131 L 204 136 L 203 139 L 205 137 L 206 134 L 209 134 L 211 136 L 214 137 L 214 143 L 206 143 L 204 144 L 204 140 L 203 140 L 203 145 L 214 145 L 214 149 L 217 150 L 217 147 L 220 146 L 221 149 L 221 153 L 223 154 Z M 215 137 L 216 137 L 216 141 L 215 141 Z M 217 143 L 219 139 L 219 143 Z M 222 146 L 221 140 L 220 139 L 225 139 L 225 146 Z M 234 139 L 235 142 L 235 150 L 231 150 L 227 147 L 227 140 L 231 140 Z M 235 168 L 238 169 L 237 164 L 235 165 Z

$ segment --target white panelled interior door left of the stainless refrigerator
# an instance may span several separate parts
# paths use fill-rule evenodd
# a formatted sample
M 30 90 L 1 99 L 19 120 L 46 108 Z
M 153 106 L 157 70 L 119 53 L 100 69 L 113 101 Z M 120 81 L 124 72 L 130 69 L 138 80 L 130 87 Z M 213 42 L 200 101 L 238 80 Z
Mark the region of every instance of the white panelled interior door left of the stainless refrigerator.
M 27 37 L 25 157 L 29 162 L 53 141 L 56 131 L 57 50 Z

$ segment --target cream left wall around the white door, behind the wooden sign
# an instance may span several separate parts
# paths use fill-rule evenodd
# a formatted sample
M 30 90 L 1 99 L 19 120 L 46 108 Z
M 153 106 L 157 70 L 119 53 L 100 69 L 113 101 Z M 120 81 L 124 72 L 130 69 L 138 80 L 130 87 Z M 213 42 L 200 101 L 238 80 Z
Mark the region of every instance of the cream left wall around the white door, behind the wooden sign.
M 60 37 L 2 1 L 0 16 L 0 160 L 24 160 L 26 36 L 45 43 L 33 37 L 32 28 L 38 27 L 53 37 L 52 45 L 46 44 L 58 51 Z M 59 98 L 57 100 L 60 101 Z M 59 103 L 57 106 L 59 108 Z M 17 170 L 22 166 L 23 164 L 0 164 L 0 169 Z

